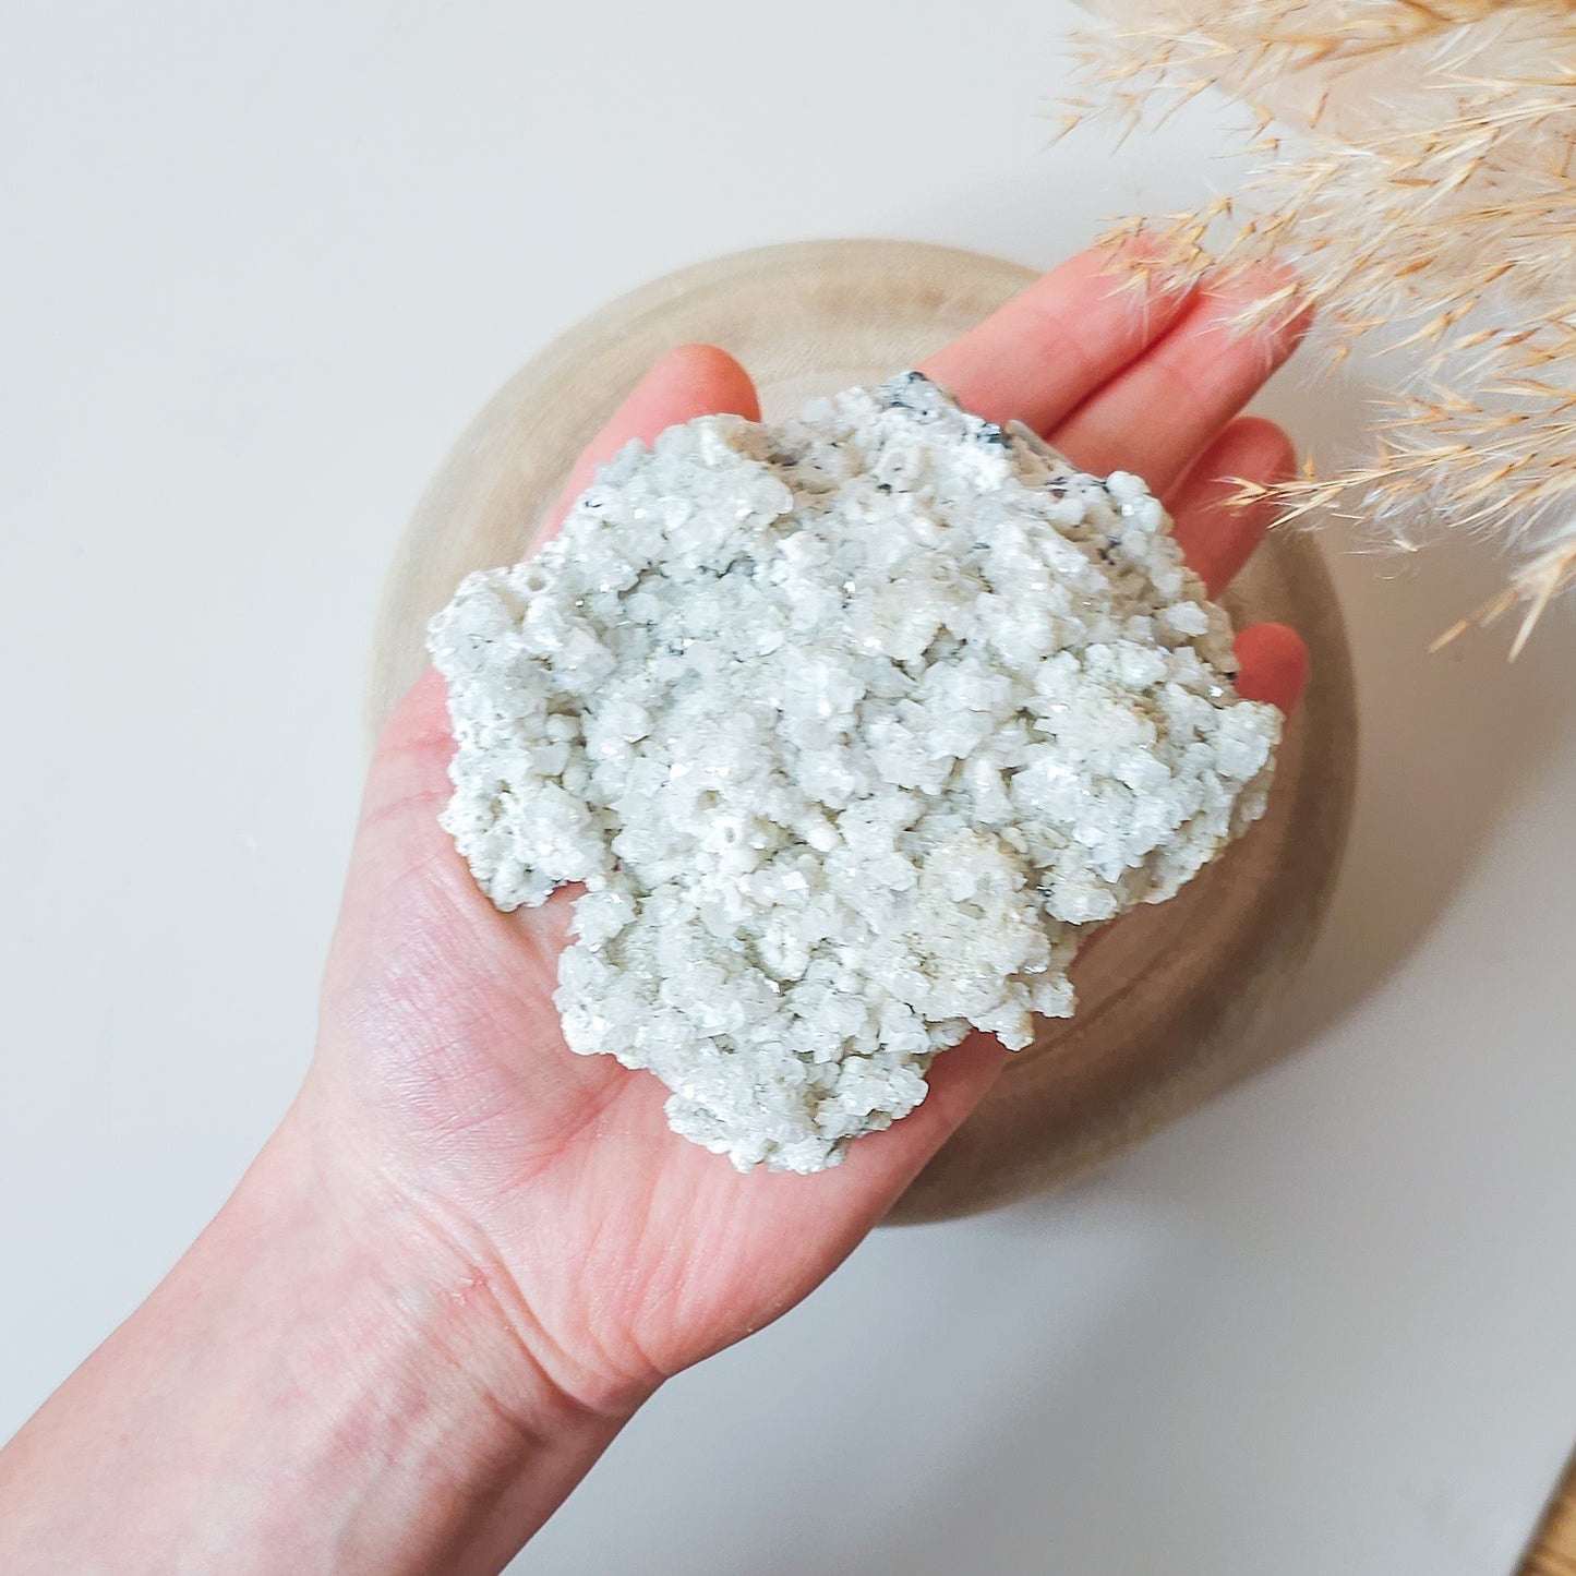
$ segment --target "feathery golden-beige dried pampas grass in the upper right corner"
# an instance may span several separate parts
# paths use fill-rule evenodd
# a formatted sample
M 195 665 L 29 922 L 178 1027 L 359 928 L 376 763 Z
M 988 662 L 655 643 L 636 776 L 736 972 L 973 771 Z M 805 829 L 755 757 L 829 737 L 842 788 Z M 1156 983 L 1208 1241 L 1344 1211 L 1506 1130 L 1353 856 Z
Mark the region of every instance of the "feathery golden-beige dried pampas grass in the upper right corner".
M 1576 0 L 1108 0 L 1069 126 L 1155 126 L 1207 87 L 1253 173 L 1143 229 L 1191 274 L 1289 258 L 1338 359 L 1398 353 L 1377 452 L 1281 489 L 1411 550 L 1492 533 L 1524 610 L 1576 583 Z M 1121 232 L 1119 232 L 1121 233 Z M 1448 638 L 1472 623 L 1447 632 Z

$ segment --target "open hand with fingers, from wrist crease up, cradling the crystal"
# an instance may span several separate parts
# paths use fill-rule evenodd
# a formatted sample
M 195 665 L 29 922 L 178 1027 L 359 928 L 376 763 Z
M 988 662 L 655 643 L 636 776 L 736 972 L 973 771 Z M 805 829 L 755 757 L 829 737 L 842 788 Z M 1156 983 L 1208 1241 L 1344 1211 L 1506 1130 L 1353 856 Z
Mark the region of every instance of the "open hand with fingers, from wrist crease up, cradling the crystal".
M 1267 523 L 1232 506 L 1231 479 L 1270 482 L 1292 462 L 1278 429 L 1237 411 L 1302 325 L 1240 334 L 1247 290 L 1117 288 L 1110 258 L 1086 254 L 924 370 L 1086 470 L 1144 476 L 1218 593 Z M 673 351 L 582 459 L 566 503 L 629 438 L 711 411 L 758 414 L 744 370 L 709 347 Z M 1245 693 L 1295 703 L 1305 654 L 1291 630 L 1247 630 L 1239 656 Z M 372 764 L 309 1091 L 337 1143 L 476 1267 L 547 1374 L 586 1404 L 624 1406 L 816 1286 L 1004 1053 L 987 1035 L 944 1053 L 927 1102 L 834 1171 L 739 1176 L 668 1132 L 656 1078 L 566 1050 L 552 993 L 569 898 L 500 914 L 476 889 L 438 826 L 451 750 L 429 673 Z

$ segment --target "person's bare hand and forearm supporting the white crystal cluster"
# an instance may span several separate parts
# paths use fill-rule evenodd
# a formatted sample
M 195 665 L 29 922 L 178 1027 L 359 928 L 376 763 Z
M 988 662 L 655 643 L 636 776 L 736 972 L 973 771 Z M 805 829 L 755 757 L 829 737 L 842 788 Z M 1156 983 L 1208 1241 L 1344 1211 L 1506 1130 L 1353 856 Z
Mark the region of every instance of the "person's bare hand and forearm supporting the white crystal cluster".
M 1114 290 L 1084 255 L 924 370 L 1078 465 L 1144 476 L 1218 593 L 1262 534 L 1225 478 L 1286 438 L 1232 419 L 1295 318 L 1243 292 Z M 722 351 L 667 356 L 582 460 L 706 411 L 753 416 Z M 1307 656 L 1237 640 L 1289 709 Z M 944 1051 L 925 1103 L 820 1176 L 739 1176 L 668 1132 L 656 1078 L 582 1059 L 552 991 L 569 901 L 500 914 L 438 826 L 429 675 L 378 744 L 299 1098 L 137 1313 L 0 1451 L 0 1567 L 39 1573 L 492 1573 L 668 1374 L 780 1314 L 886 1214 L 999 1072 Z

